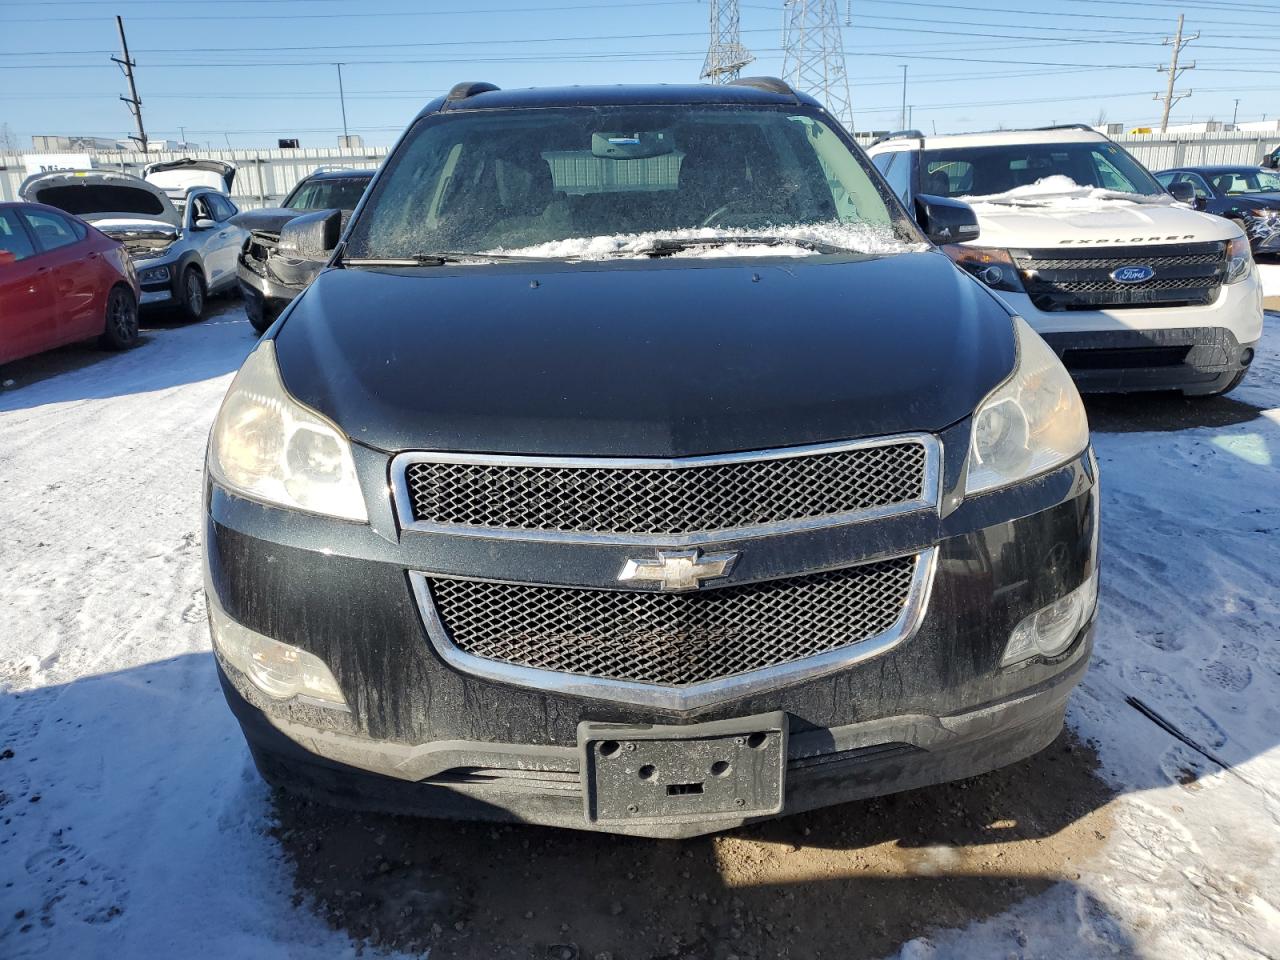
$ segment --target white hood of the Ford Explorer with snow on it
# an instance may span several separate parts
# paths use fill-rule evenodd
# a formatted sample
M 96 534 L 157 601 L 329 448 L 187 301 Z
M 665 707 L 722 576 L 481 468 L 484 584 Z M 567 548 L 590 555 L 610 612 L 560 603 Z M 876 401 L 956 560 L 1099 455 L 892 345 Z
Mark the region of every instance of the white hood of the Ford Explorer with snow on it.
M 1075 244 L 1194 243 L 1226 241 L 1234 227 L 1176 204 L 1100 201 L 1060 206 L 975 204 L 979 247 L 1044 248 Z

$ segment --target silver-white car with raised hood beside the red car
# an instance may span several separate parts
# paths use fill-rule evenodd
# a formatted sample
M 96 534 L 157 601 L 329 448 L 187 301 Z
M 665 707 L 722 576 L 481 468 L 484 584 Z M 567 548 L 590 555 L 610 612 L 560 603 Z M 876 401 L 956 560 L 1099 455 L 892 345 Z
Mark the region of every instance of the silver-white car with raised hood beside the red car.
M 28 177 L 23 200 L 65 210 L 129 250 L 143 306 L 173 306 L 198 320 L 209 297 L 237 288 L 246 232 L 227 195 L 236 168 L 219 160 L 151 164 L 145 179 L 111 170 L 56 170 Z

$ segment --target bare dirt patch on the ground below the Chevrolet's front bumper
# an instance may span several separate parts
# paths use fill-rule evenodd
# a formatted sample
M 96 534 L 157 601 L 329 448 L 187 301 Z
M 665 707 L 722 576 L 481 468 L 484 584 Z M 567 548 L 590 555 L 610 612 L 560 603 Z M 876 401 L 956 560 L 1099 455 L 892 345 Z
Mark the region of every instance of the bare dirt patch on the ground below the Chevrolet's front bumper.
M 276 797 L 296 899 L 355 941 L 444 957 L 876 957 L 1073 881 L 1110 832 L 1064 733 L 983 777 L 654 841 L 360 815 Z

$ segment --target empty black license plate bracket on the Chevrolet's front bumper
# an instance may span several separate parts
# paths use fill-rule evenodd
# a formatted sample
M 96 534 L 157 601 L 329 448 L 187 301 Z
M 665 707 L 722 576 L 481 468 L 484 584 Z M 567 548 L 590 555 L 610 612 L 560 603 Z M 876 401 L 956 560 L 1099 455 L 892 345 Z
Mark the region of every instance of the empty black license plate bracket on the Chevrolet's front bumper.
M 690 823 L 782 812 L 785 713 L 684 727 L 584 721 L 577 742 L 589 823 Z

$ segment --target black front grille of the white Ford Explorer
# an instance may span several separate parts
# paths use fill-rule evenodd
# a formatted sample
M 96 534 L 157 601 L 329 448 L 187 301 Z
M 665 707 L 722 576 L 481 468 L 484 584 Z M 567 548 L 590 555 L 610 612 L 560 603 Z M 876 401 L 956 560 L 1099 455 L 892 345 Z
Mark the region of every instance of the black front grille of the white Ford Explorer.
M 1226 270 L 1226 244 L 1174 243 L 1105 250 L 1014 251 L 1027 294 L 1039 310 L 1201 306 L 1212 303 Z M 1149 266 L 1144 283 L 1116 283 L 1121 266 Z

